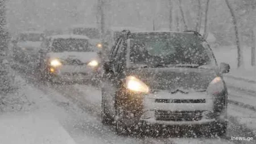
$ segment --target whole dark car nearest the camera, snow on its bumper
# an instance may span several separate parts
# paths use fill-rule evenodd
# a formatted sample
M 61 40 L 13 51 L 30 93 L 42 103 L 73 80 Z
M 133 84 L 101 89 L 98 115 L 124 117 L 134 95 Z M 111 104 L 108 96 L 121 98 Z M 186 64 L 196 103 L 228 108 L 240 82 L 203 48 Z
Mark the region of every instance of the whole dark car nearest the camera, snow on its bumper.
M 102 123 L 117 134 L 195 126 L 225 135 L 229 68 L 196 32 L 123 31 L 104 63 Z

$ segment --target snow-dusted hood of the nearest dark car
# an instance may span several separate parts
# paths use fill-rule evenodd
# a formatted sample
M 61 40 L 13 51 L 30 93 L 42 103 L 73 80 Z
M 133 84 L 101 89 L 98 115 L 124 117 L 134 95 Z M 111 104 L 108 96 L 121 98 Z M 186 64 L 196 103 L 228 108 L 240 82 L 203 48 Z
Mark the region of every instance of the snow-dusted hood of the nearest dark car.
M 212 69 L 192 68 L 142 68 L 128 72 L 141 79 L 151 90 L 205 91 L 209 83 L 217 77 Z

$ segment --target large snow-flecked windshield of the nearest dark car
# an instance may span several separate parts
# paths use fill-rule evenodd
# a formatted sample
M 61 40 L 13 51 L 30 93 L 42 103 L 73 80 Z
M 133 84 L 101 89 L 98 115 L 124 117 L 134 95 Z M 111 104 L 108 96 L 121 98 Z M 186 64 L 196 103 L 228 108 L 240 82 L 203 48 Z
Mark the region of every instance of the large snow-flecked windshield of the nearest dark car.
M 137 33 L 130 40 L 130 62 L 146 65 L 208 65 L 210 49 L 200 38 L 184 33 Z

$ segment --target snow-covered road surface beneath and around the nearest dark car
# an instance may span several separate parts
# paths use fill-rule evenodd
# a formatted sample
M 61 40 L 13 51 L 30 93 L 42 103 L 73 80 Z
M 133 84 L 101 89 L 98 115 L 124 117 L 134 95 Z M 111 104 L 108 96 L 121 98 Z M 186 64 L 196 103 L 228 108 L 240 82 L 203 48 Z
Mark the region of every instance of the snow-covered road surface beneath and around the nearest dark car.
M 43 111 L 52 113 L 76 143 L 254 143 L 230 141 L 230 137 L 254 137 L 253 126 L 246 120 L 254 120 L 253 112 L 229 104 L 228 137 L 226 138 L 149 138 L 121 137 L 114 128 L 101 124 L 101 92 L 89 85 L 51 85 L 39 83 L 35 75 L 23 74 L 24 91 L 30 100 L 40 105 Z M 251 123 L 254 125 L 254 123 Z M 250 129 L 248 128 L 250 126 Z M 255 127 L 255 125 L 254 125 Z

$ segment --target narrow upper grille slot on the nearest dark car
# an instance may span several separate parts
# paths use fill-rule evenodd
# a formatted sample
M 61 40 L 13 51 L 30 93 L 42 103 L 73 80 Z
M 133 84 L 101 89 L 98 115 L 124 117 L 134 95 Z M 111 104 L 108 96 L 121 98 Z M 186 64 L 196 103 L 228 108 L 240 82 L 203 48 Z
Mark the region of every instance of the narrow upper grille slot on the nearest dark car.
M 156 103 L 205 103 L 205 99 L 156 99 Z

